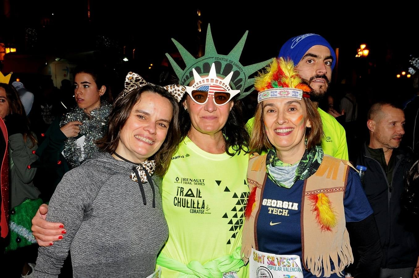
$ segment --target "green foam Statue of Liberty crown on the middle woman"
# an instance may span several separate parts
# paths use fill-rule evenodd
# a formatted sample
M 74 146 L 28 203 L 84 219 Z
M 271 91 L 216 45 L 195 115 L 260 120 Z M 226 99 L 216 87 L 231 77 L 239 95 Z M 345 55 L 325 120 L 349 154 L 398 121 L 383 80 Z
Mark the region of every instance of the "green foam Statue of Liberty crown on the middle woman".
M 248 31 L 244 33 L 243 37 L 229 54 L 218 54 L 212 39 L 211 28 L 208 24 L 205 54 L 199 58 L 192 56 L 192 54 L 190 54 L 181 44 L 175 39 L 172 39 L 186 64 L 185 69 L 181 69 L 173 58 L 166 53 L 170 64 L 179 78 L 179 84 L 185 86 L 188 91 L 197 90 L 199 85 L 204 83 L 221 85 L 221 87 L 225 88 L 225 91 L 232 95 L 235 95 L 240 91 L 237 99 L 244 98 L 251 93 L 255 79 L 249 78 L 249 76 L 265 67 L 266 64 L 269 63 L 269 60 L 248 66 L 243 66 L 239 62 L 247 34 Z M 209 75 L 211 75 L 211 77 L 209 77 Z M 203 78 L 201 76 L 207 77 Z M 189 86 L 189 83 L 192 80 L 194 80 L 194 84 Z M 247 88 L 248 90 L 246 91 Z M 175 97 L 181 99 L 186 90 L 182 90 L 183 93 L 175 95 Z

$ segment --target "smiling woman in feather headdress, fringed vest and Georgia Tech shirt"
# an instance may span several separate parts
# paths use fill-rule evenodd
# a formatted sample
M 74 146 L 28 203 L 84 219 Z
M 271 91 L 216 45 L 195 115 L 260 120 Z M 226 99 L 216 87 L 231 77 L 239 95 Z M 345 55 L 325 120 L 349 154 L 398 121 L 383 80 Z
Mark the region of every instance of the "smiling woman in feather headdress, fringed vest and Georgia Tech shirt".
M 344 276 L 353 262 L 348 230 L 369 247 L 368 268 L 360 263 L 357 270 L 375 277 L 381 250 L 372 209 L 352 165 L 323 154 L 310 87 L 294 63 L 280 57 L 256 77 L 255 88 L 249 145 L 256 152 L 248 166 L 242 241 L 250 277 Z

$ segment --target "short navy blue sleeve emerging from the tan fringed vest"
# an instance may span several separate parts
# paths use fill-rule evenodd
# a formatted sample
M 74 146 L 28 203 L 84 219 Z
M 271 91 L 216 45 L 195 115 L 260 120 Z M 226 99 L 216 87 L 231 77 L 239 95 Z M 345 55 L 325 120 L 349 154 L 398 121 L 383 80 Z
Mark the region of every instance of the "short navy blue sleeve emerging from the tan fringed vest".
M 372 214 L 360 177 L 352 168 L 349 169 L 343 205 L 347 222 L 358 222 Z

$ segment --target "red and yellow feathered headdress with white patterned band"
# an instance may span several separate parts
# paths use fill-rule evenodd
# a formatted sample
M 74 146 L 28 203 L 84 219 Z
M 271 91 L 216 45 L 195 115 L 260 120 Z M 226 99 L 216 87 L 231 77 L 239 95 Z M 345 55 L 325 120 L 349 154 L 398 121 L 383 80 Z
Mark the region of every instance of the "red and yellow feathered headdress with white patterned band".
M 255 89 L 259 92 L 258 103 L 272 98 L 310 98 L 311 88 L 295 70 L 294 62 L 282 57 L 272 62 L 255 78 Z

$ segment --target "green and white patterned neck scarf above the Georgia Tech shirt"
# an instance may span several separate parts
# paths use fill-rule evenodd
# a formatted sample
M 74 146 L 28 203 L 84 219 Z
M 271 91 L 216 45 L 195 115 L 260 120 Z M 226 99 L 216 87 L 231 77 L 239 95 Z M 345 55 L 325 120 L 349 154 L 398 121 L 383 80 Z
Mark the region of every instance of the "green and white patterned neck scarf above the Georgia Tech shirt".
M 306 149 L 300 162 L 290 165 L 277 157 L 276 150 L 269 149 L 266 156 L 266 172 L 276 185 L 291 188 L 297 180 L 304 180 L 313 175 L 323 160 L 323 149 L 318 146 Z

